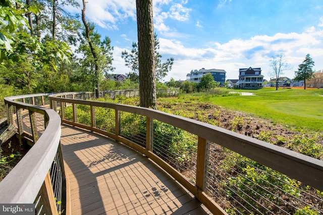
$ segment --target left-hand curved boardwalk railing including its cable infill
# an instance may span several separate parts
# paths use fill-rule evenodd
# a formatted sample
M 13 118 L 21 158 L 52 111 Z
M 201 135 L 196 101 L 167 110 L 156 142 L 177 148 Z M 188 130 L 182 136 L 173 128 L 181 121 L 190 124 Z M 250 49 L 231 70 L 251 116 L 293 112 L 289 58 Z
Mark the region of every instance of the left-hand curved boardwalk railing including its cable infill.
M 35 214 L 66 210 L 61 119 L 55 111 L 40 107 L 49 104 L 48 95 L 5 98 L 8 123 L 17 126 L 20 140 L 27 139 L 33 147 L 1 181 L 0 202 L 35 203 Z

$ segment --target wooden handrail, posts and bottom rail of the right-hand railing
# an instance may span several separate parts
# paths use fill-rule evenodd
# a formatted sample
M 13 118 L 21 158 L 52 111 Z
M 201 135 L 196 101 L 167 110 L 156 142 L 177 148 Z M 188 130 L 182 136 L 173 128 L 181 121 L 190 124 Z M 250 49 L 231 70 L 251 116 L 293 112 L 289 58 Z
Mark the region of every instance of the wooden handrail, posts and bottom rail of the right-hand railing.
M 247 158 L 250 158 L 260 164 L 277 170 L 291 178 L 294 178 L 304 184 L 310 185 L 315 189 L 323 190 L 323 161 L 275 146 L 267 142 L 245 136 L 224 128 L 220 128 L 211 124 L 200 122 L 193 119 L 161 112 L 158 110 L 121 105 L 115 103 L 106 103 L 90 100 L 66 99 L 67 94 L 57 94 L 49 96 L 51 106 L 57 106 L 57 102 L 61 104 L 62 122 L 74 126 L 86 128 L 107 136 L 110 136 L 124 144 L 134 148 L 135 150 L 146 155 L 157 163 L 161 168 L 171 174 L 176 180 L 184 185 L 193 195 L 195 195 L 202 203 L 204 203 L 214 214 L 226 214 L 226 212 L 214 202 L 205 192 L 205 149 L 207 141 L 217 142 L 217 144 L 237 152 Z M 76 117 L 76 104 L 89 105 L 91 108 L 91 126 L 77 123 L 64 119 L 65 103 L 73 105 L 73 115 Z M 116 132 L 111 133 L 95 127 L 95 114 L 92 114 L 93 107 L 112 108 L 116 111 Z M 146 117 L 147 122 L 147 138 L 146 147 L 141 147 L 119 135 L 120 111 L 135 113 Z M 167 162 L 156 156 L 150 149 L 151 147 L 151 130 L 152 119 L 168 123 L 175 127 L 186 130 L 198 136 L 197 164 L 196 164 L 196 183 L 188 181 L 180 172 L 171 167 Z M 304 174 L 306 173 L 306 174 Z

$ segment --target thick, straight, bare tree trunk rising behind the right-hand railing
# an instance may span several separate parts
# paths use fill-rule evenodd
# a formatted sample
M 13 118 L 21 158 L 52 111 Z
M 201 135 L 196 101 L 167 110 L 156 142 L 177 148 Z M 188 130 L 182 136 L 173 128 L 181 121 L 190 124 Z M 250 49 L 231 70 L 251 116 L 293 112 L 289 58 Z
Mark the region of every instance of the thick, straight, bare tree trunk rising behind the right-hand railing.
M 156 109 L 152 0 L 136 0 L 136 6 L 140 106 Z

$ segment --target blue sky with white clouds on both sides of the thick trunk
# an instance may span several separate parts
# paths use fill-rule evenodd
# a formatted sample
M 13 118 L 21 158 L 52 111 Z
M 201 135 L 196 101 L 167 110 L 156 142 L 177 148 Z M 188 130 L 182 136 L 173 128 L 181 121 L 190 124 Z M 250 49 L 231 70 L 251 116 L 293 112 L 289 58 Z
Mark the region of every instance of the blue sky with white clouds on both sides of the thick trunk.
M 121 52 L 137 41 L 135 0 L 88 1 L 86 7 L 87 19 L 112 41 L 114 73 L 128 73 Z M 225 69 L 227 79 L 238 79 L 239 68 L 249 66 L 261 67 L 269 80 L 270 58 L 279 53 L 292 65 L 286 77 L 294 78 L 307 53 L 314 69 L 323 69 L 322 0 L 153 0 L 153 16 L 159 53 L 175 58 L 164 81 L 186 80 L 202 67 Z

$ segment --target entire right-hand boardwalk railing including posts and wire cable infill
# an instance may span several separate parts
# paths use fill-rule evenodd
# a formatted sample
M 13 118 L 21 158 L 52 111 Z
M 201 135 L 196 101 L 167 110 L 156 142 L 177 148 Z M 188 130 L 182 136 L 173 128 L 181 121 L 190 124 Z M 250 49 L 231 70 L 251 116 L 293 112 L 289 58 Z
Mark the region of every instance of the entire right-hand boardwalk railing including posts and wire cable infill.
M 230 170 L 226 170 L 226 167 L 222 168 L 224 163 L 228 162 L 229 154 L 231 156 L 230 162 L 234 163 L 237 161 L 236 157 L 238 156 L 235 157 L 233 153 L 228 153 L 228 150 L 231 150 L 234 153 L 239 154 L 239 156 L 244 156 L 264 165 L 264 168 L 271 168 L 272 170 L 269 172 L 274 172 L 274 170 L 278 171 L 291 179 L 296 179 L 297 181 L 308 185 L 308 187 L 323 191 L 323 183 L 321 181 L 323 178 L 323 161 L 211 124 L 158 110 L 90 100 L 68 99 L 68 97 L 68 94 L 49 96 L 51 106 L 54 109 L 59 110 L 63 123 L 107 135 L 146 155 L 184 185 L 214 214 L 225 214 L 226 211 L 235 211 L 236 213 L 241 214 L 253 213 L 256 211 L 256 213 L 265 214 L 265 212 L 261 212 L 260 207 L 265 207 L 265 210 L 270 211 L 270 209 L 266 208 L 269 207 L 269 204 L 274 204 L 274 206 L 278 207 L 280 212 L 288 213 L 288 209 L 284 209 L 283 206 L 278 204 L 288 204 L 294 211 L 300 211 L 302 207 L 304 207 L 313 208 L 313 210 L 322 213 L 323 201 L 321 197 L 305 193 L 306 195 L 310 195 L 310 198 L 315 199 L 315 205 L 306 203 L 305 200 L 297 197 L 297 201 L 300 201 L 301 203 L 295 206 L 284 199 L 284 195 L 290 195 L 290 197 L 293 198 L 298 194 L 290 194 L 289 191 L 285 191 L 284 186 L 286 184 L 276 185 L 271 184 L 270 181 L 264 181 L 266 184 L 270 184 L 265 186 L 273 186 L 273 189 L 279 190 L 280 194 L 273 191 L 272 188 L 264 188 L 269 194 L 261 194 L 259 193 L 260 191 L 258 191 L 258 187 L 256 187 L 252 190 L 256 197 L 247 194 L 248 198 L 250 197 L 251 201 L 254 200 L 255 202 L 247 202 L 243 197 L 245 194 L 239 194 L 241 188 L 237 187 L 237 185 L 235 185 L 235 188 L 227 186 L 225 190 L 221 186 L 229 183 L 236 173 L 232 173 L 225 177 L 219 175 L 221 175 L 220 172 L 230 172 Z M 90 112 L 90 114 L 87 114 L 89 116 L 87 122 L 79 122 L 80 116 L 78 114 L 78 106 L 80 106 L 82 110 Z M 66 109 L 68 107 L 70 112 L 69 117 L 66 116 Z M 106 114 L 108 114 L 109 111 L 113 111 L 114 114 L 111 114 L 110 112 L 109 116 L 106 115 L 106 117 L 110 117 L 110 120 L 113 121 L 113 129 L 101 128 L 97 125 L 97 111 L 106 112 Z M 137 117 L 133 117 L 133 115 Z M 100 117 L 102 118 L 102 116 Z M 134 121 L 136 120 L 141 120 L 141 122 L 137 123 L 138 127 L 141 127 L 140 129 L 134 126 L 134 124 L 136 124 Z M 142 126 L 142 120 L 145 121 L 145 126 Z M 154 124 L 160 125 L 160 123 L 165 124 L 161 124 L 161 127 L 154 127 Z M 171 127 L 167 127 L 167 125 Z M 127 126 L 130 127 L 127 128 Z M 183 135 L 186 137 L 179 134 L 182 135 L 180 138 L 187 138 L 187 142 L 192 142 L 192 144 L 188 143 L 186 148 L 184 147 L 184 151 L 192 151 L 189 159 L 185 157 L 187 155 L 185 154 L 186 152 L 182 156 L 182 154 L 176 151 L 177 149 L 173 149 L 174 147 L 179 147 L 176 143 L 171 146 L 171 142 L 173 141 L 173 139 L 171 139 L 172 135 L 167 135 L 165 132 L 163 133 L 163 129 L 169 128 L 171 128 L 169 132 L 172 133 L 172 135 L 177 135 L 181 133 L 181 131 L 184 131 L 185 134 Z M 225 158 L 219 158 L 217 161 L 219 153 L 224 154 Z M 219 164 L 219 162 L 222 163 Z M 230 165 L 232 166 L 233 164 Z M 222 168 L 218 170 L 218 172 L 216 171 L 217 166 Z M 250 166 L 250 164 L 246 164 L 246 167 L 248 166 Z M 254 164 L 252 168 L 256 168 L 255 166 L 257 165 Z M 263 170 L 260 168 L 259 171 Z M 275 175 L 277 174 L 273 173 L 270 177 L 275 177 Z M 256 180 L 257 174 L 253 176 L 255 179 L 249 179 L 247 176 L 241 177 L 248 179 L 252 183 L 253 180 Z M 239 177 L 237 178 L 237 180 L 239 180 Z M 280 179 L 278 176 L 275 180 L 285 183 L 284 180 Z M 242 186 L 250 187 L 251 189 L 251 186 L 248 184 Z M 218 195 L 221 193 L 220 189 L 222 189 L 222 195 Z M 291 189 L 297 189 L 297 185 L 292 185 Z M 280 203 L 273 203 L 271 196 L 273 198 L 278 198 L 278 202 Z M 237 200 L 238 197 L 239 200 Z M 259 200 L 261 202 L 258 202 L 258 199 L 255 199 L 258 197 L 262 199 Z M 236 198 L 235 200 L 238 202 L 236 204 L 230 202 L 226 203 L 224 202 L 224 198 Z M 241 205 L 243 208 L 241 210 L 244 210 L 244 212 L 239 212 L 237 208 L 233 208 L 236 207 L 235 205 L 237 204 Z M 247 204 L 249 204 L 249 206 Z M 259 204 L 260 209 L 253 204 Z M 225 211 L 223 207 L 226 207 L 227 210 Z

